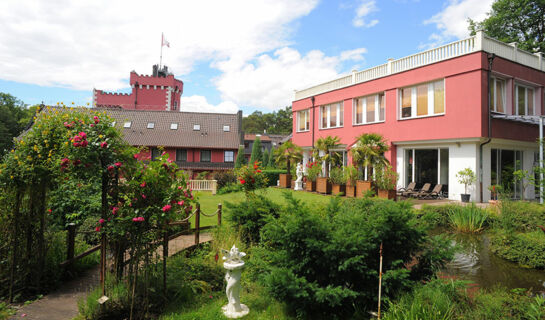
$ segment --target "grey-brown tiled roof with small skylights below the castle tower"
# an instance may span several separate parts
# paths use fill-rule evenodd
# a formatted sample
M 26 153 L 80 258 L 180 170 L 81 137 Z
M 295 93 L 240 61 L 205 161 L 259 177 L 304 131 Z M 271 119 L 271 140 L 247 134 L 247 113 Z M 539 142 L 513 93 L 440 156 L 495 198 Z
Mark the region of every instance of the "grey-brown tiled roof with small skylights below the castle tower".
M 238 113 L 97 110 L 105 110 L 116 119 L 125 141 L 135 146 L 238 149 L 240 145 Z M 124 128 L 127 121 L 131 122 L 130 128 Z M 148 129 L 148 123 L 154 123 L 153 129 Z M 175 130 L 171 129 L 173 123 L 178 124 Z M 199 125 L 200 130 L 193 130 L 194 125 Z M 224 126 L 229 126 L 228 132 Z

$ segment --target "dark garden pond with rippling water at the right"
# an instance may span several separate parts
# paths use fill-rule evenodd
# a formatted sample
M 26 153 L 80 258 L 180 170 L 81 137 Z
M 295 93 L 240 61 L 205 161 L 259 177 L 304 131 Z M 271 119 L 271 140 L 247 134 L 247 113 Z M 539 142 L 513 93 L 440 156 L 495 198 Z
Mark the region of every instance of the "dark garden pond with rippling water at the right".
M 453 242 L 460 246 L 442 275 L 475 282 L 483 288 L 532 288 L 545 291 L 545 271 L 520 267 L 496 256 L 489 248 L 486 234 L 453 234 Z

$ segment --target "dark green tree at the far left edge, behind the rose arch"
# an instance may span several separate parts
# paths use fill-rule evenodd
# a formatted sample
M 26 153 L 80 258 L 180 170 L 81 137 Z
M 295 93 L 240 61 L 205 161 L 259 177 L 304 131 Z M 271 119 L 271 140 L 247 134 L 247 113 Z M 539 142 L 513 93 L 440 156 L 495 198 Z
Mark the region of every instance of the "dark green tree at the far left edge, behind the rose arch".
M 31 116 L 22 101 L 0 92 L 0 156 L 13 146 L 13 138 L 23 131 Z

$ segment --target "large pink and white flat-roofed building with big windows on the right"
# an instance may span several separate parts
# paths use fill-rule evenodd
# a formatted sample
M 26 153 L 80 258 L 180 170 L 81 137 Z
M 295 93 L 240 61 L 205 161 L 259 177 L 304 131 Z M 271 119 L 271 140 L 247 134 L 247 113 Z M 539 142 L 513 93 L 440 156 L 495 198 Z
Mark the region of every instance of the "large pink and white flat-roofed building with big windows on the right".
M 398 186 L 414 181 L 443 184 L 450 199 L 464 185 L 456 173 L 478 177 L 472 199 L 488 200 L 491 184 L 520 197 L 513 171 L 532 172 L 538 156 L 536 118 L 544 114 L 545 61 L 476 36 L 417 53 L 317 86 L 296 91 L 293 142 L 305 149 L 338 136 L 345 162 L 356 137 L 380 133 L 390 143 L 387 158 Z M 490 101 L 489 101 L 490 92 Z M 535 197 L 527 188 L 525 198 Z

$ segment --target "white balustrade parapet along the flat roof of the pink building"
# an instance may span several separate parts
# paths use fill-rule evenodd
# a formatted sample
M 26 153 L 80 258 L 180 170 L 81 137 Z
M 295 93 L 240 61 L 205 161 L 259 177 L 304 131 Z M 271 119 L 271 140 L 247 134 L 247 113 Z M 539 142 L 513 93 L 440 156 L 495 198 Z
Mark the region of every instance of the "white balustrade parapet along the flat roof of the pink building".
M 391 74 L 415 69 L 439 61 L 460 57 L 477 51 L 486 51 L 507 60 L 545 71 L 545 62 L 541 53 L 530 53 L 490 38 L 483 31 L 477 31 L 475 36 L 458 40 L 443 46 L 416 53 L 400 59 L 388 59 L 388 62 L 360 72 L 351 73 L 310 88 L 295 90 L 294 100 L 301 100 L 317 94 L 345 88 L 357 83 L 382 78 Z

